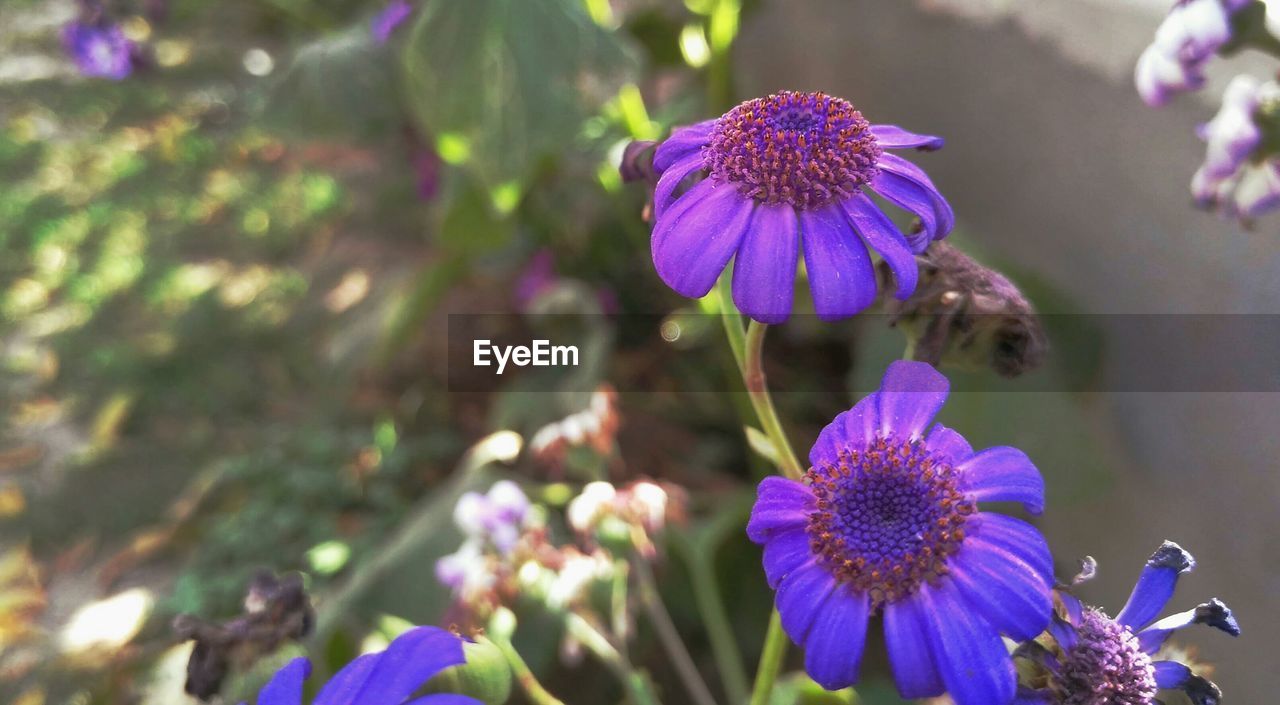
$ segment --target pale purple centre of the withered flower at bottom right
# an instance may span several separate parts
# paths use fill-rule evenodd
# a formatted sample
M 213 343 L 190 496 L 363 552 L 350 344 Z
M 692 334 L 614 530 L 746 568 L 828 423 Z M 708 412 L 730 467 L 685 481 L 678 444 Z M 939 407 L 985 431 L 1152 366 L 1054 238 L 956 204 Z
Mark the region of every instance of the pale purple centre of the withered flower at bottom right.
M 1085 610 L 1079 641 L 1062 659 L 1059 682 L 1062 705 L 1148 705 L 1156 697 L 1156 673 L 1138 637 L 1106 614 Z

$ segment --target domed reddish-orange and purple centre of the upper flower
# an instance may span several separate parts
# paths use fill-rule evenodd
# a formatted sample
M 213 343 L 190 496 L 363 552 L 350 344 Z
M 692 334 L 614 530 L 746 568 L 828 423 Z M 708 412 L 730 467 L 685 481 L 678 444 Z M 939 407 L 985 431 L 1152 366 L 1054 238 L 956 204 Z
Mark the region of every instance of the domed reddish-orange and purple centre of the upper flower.
M 876 177 L 881 148 L 869 128 L 846 100 L 783 91 L 722 115 L 703 155 L 744 196 L 817 209 Z

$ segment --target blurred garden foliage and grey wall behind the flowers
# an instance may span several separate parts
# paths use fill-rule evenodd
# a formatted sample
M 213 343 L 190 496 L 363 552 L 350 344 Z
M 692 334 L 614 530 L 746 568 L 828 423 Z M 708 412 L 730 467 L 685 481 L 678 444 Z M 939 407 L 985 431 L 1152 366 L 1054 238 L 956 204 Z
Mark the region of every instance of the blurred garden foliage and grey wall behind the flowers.
M 1060 316 L 1033 392 L 956 370 L 969 384 L 942 421 L 1032 455 L 1059 574 L 1100 562 L 1087 601 L 1117 610 L 1164 539 L 1190 550 L 1170 609 L 1219 596 L 1244 633 L 1184 641 L 1228 702 L 1262 701 L 1261 635 L 1280 627 L 1280 242 L 1274 221 L 1193 210 L 1187 183 L 1224 77 L 1267 64 L 1222 63 L 1202 93 L 1147 109 L 1132 67 L 1166 5 L 434 1 L 383 40 L 383 3 L 137 0 L 104 5 L 133 47 L 106 79 L 60 38 L 87 5 L 4 0 L 0 700 L 188 702 L 172 619 L 236 617 L 264 568 L 303 574 L 307 646 L 330 669 L 396 621 L 448 623 L 433 563 L 458 544 L 456 498 L 497 477 L 552 507 L 595 477 L 684 487 L 669 543 L 712 550 L 664 549 L 667 605 L 714 673 L 687 596 L 709 566 L 754 664 L 771 596 L 739 531 L 765 471 L 750 407 L 728 392 L 718 321 L 654 275 L 644 186 L 617 164 L 631 139 L 791 88 L 947 138 L 918 162 L 955 206 L 954 241 Z M 448 365 L 460 313 L 576 326 L 558 334 L 586 361 L 470 385 Z M 1192 313 L 1262 322 L 1229 342 L 1125 337 L 1123 315 Z M 681 335 L 658 334 L 668 317 Z M 882 320 L 774 330 L 796 447 L 901 344 Z M 1134 389 L 1135 356 L 1245 383 Z M 621 390 L 607 452 L 530 449 L 603 384 Z M 476 467 L 500 430 L 524 452 Z M 571 704 L 621 697 L 553 631 L 520 638 Z M 681 702 L 649 641 L 636 659 Z M 269 665 L 234 674 L 225 701 Z M 883 660 L 865 670 L 865 701 L 896 702 Z

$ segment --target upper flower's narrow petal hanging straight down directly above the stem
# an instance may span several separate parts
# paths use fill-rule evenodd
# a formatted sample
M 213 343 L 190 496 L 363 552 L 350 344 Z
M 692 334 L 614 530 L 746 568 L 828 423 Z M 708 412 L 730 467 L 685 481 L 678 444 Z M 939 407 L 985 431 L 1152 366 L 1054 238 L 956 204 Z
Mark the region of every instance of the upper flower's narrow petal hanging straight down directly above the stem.
M 791 316 L 800 233 L 791 206 L 760 206 L 733 258 L 733 303 L 762 324 Z

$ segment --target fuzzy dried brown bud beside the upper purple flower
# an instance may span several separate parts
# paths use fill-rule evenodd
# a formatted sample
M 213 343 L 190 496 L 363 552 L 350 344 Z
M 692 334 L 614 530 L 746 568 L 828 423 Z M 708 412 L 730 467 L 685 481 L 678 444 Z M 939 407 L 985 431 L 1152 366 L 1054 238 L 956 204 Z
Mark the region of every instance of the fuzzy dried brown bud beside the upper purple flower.
M 1039 366 L 1048 342 L 1036 310 L 1012 281 L 946 242 L 929 246 L 916 262 L 915 293 L 886 305 L 892 325 L 913 340 L 915 360 L 978 365 L 1005 377 Z M 879 274 L 888 283 L 883 262 Z

